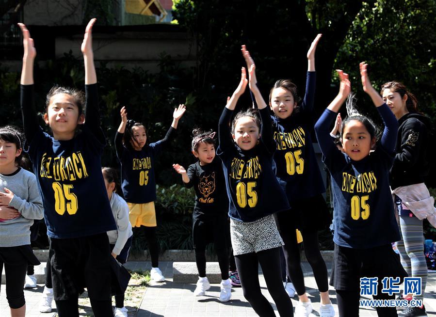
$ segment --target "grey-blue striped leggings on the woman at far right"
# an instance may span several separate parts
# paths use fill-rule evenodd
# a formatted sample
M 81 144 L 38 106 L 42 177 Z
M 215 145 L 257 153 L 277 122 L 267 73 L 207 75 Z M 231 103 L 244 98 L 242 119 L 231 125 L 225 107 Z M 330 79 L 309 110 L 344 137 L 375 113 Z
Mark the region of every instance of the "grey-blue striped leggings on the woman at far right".
M 410 277 L 421 278 L 421 295 L 414 295 L 413 298 L 423 300 L 427 283 L 427 263 L 424 257 L 422 220 L 416 217 L 400 216 L 398 225 L 401 240 L 397 241 L 397 249 L 400 252 L 401 264 Z

